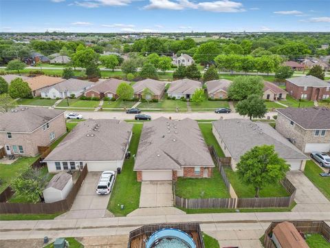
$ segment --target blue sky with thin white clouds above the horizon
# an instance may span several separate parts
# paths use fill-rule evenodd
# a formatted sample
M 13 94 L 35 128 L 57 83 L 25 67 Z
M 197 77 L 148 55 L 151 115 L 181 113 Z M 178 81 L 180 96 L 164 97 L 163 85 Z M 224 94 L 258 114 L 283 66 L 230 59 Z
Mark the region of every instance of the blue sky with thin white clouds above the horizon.
M 330 32 L 330 0 L 0 0 L 0 32 Z

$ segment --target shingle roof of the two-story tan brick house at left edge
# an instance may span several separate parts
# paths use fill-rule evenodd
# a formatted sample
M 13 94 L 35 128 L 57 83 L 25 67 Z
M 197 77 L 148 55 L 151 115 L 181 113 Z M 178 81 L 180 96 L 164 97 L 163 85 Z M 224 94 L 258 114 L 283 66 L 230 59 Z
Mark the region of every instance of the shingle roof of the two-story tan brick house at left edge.
M 14 110 L 17 112 L 0 114 L 0 132 L 32 132 L 64 112 L 45 107 L 17 107 Z

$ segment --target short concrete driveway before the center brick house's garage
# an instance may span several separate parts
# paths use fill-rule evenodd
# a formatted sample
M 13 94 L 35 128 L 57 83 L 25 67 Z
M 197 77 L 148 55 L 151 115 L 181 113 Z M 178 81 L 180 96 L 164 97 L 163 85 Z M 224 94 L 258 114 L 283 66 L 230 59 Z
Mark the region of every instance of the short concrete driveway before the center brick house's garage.
M 141 185 L 140 207 L 172 207 L 173 192 L 170 181 L 145 181 Z

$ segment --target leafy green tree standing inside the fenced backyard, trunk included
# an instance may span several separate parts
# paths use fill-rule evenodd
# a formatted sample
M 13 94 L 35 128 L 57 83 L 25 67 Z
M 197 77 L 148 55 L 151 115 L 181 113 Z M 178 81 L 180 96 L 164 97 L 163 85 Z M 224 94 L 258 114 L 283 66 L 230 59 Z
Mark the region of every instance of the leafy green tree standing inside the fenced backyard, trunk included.
M 280 183 L 289 171 L 289 165 L 278 156 L 274 145 L 253 147 L 241 156 L 236 168 L 240 180 L 254 187 L 256 197 L 263 187 Z

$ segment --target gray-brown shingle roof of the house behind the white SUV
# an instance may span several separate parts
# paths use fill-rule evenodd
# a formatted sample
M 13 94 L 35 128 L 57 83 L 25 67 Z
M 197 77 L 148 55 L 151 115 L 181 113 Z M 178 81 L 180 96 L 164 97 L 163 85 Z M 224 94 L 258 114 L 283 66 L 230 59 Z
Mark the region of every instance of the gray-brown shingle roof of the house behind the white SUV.
M 131 131 L 125 121 L 80 122 L 44 161 L 121 161 Z

